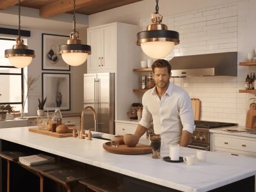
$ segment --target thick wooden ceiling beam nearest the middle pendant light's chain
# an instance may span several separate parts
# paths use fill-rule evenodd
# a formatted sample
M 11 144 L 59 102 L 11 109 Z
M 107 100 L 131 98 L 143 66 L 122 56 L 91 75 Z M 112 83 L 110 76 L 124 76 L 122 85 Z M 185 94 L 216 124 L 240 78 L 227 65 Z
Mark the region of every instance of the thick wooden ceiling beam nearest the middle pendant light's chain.
M 8 0 L 5 0 L 8 1 Z M 16 0 L 17 1 L 17 0 Z M 86 6 L 86 4 L 93 0 L 76 0 L 76 8 Z M 40 17 L 52 17 L 67 13 L 74 10 L 74 0 L 60 0 L 51 4 L 47 4 L 40 8 Z

